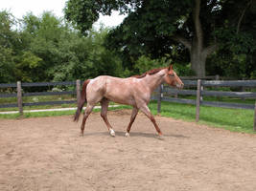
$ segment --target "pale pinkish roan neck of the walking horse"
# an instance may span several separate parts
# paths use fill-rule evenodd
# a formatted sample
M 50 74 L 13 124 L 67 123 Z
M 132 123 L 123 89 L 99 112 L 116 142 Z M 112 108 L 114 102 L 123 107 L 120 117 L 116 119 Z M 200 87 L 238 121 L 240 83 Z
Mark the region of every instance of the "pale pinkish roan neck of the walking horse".
M 156 74 L 147 74 L 143 81 L 147 84 L 147 86 L 151 89 L 151 92 L 154 91 L 161 83 L 164 82 L 165 71 L 159 71 Z

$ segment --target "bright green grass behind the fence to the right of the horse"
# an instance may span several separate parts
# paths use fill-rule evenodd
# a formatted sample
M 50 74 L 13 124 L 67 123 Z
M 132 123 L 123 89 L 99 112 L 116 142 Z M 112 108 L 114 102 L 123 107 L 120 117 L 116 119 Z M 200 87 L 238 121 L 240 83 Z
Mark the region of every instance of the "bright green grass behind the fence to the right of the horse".
M 157 103 L 151 102 L 150 108 L 152 113 L 156 115 Z M 161 116 L 195 121 L 196 106 L 163 101 L 161 104 Z M 223 128 L 232 132 L 255 134 L 256 132 L 253 131 L 253 119 L 253 110 L 200 106 L 199 124 Z

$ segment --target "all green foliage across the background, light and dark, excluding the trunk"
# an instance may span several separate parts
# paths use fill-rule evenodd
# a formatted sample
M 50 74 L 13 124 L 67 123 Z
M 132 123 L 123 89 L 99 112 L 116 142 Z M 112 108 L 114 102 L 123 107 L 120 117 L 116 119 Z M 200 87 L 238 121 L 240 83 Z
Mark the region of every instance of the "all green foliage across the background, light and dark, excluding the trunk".
M 208 0 L 200 6 L 202 48 L 214 44 L 219 48 L 208 56 L 207 74 L 255 79 L 254 1 Z M 0 83 L 101 74 L 125 77 L 167 66 L 171 60 L 177 74 L 193 75 L 192 53 L 177 39 L 197 42 L 194 8 L 190 0 L 69 0 L 65 17 L 72 26 L 49 11 L 38 17 L 28 13 L 19 21 L 0 11 Z M 111 11 L 128 17 L 117 28 L 90 29 L 101 13 Z

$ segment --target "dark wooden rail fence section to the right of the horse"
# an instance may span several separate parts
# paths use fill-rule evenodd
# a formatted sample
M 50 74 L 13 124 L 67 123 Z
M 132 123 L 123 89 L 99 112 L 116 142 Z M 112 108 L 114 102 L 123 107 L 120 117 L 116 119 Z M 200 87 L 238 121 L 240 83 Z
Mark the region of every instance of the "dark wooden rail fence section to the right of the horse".
M 235 108 L 235 109 L 251 109 L 254 110 L 254 124 L 253 129 L 256 131 L 256 101 L 255 104 L 244 104 L 244 103 L 229 103 L 222 101 L 206 101 L 203 100 L 203 96 L 228 96 L 228 97 L 239 97 L 239 98 L 254 98 L 256 99 L 255 92 L 225 92 L 225 91 L 208 91 L 204 90 L 206 87 L 237 87 L 237 88 L 256 88 L 256 80 L 183 80 L 185 87 L 194 87 L 196 90 L 177 90 L 169 86 L 161 85 L 157 94 L 151 98 L 157 100 L 157 112 L 161 112 L 161 101 L 177 102 L 194 104 L 197 106 L 196 109 L 196 121 L 199 120 L 199 108 L 200 105 L 224 107 L 224 108 Z M 175 97 L 171 97 L 175 96 Z M 177 98 L 178 95 L 182 96 L 196 96 L 196 99 Z

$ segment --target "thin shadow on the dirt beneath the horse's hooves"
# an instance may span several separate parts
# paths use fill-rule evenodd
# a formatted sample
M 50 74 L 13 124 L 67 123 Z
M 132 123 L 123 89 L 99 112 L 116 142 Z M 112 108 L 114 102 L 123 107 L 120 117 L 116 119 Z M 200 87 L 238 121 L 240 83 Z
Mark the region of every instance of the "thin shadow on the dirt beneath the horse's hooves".
M 126 132 L 122 131 L 116 131 L 115 132 L 116 137 L 124 137 Z M 130 132 L 129 133 L 131 138 L 158 138 L 156 134 L 153 133 L 143 133 L 143 132 Z M 109 136 L 108 132 L 91 132 L 91 133 L 86 133 L 84 132 L 83 137 L 90 137 L 90 136 Z M 183 135 L 178 135 L 178 134 L 165 134 L 163 138 L 189 138 Z

